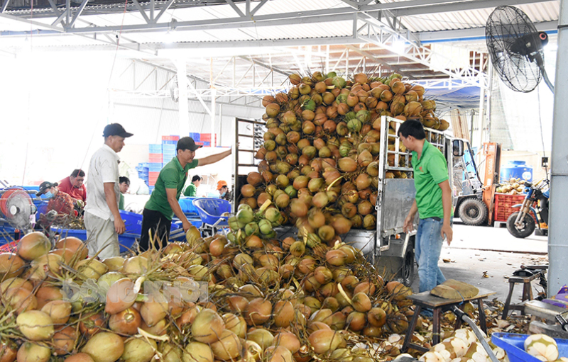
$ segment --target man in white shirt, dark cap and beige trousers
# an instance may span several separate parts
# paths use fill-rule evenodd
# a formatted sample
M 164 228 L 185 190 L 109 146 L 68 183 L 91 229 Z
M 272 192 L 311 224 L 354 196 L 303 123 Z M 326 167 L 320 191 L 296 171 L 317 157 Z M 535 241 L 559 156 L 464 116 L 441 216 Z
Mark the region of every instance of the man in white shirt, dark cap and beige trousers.
M 84 226 L 87 229 L 89 257 L 100 251 L 99 259 L 119 256 L 119 234 L 126 227 L 119 213 L 119 155 L 124 139 L 131 137 L 119 123 L 104 128 L 104 145 L 94 152 L 87 178 L 87 206 Z

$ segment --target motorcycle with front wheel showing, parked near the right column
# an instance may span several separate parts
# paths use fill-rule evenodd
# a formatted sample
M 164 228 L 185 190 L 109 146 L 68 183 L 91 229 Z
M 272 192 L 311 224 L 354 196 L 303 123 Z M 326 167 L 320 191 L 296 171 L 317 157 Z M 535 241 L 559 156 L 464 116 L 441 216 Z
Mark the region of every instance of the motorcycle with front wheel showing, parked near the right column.
M 507 219 L 507 230 L 513 237 L 528 237 L 535 228 L 542 235 L 548 234 L 548 198 L 550 197 L 550 181 L 544 179 L 534 185 L 525 181 L 525 200 L 523 203 L 513 205 L 520 211 L 512 213 Z M 532 217 L 531 213 L 535 215 Z

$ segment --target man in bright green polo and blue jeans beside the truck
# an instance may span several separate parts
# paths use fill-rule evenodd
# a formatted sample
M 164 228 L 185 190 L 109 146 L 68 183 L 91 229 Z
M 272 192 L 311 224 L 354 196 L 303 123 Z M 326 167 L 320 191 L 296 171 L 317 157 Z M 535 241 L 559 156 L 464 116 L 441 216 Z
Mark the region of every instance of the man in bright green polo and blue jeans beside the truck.
M 432 290 L 446 279 L 438 267 L 442 242 L 452 242 L 450 225 L 452 188 L 449 187 L 447 162 L 435 146 L 426 140 L 422 124 L 407 120 L 398 129 L 403 145 L 412 151 L 416 197 L 404 222 L 405 232 L 413 230 L 416 213 L 420 220 L 415 238 L 420 292 Z

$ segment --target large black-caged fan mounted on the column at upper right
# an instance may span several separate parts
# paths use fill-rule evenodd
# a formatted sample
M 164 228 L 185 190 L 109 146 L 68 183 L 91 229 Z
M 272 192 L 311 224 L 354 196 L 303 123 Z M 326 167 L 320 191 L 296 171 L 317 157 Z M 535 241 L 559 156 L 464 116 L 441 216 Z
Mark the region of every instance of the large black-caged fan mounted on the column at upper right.
M 485 24 L 485 40 L 493 67 L 510 89 L 527 93 L 544 79 L 554 92 L 542 50 L 548 35 L 538 32 L 527 14 L 514 6 L 498 6 Z

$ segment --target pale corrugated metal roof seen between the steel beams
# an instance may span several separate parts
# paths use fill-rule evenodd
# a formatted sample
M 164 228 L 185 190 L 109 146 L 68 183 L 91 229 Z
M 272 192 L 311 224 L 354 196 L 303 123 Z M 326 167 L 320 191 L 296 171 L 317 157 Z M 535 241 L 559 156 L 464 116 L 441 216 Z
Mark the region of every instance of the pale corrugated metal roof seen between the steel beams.
M 408 0 L 382 0 L 383 3 L 401 3 Z M 251 2 L 251 9 L 258 6 L 258 1 Z M 485 4 L 485 3 L 483 3 Z M 244 2 L 236 4 L 244 11 L 246 4 Z M 341 0 L 270 0 L 264 4 L 255 14 L 258 16 L 269 16 L 271 14 L 291 13 L 291 12 L 307 12 L 307 11 L 329 11 L 328 9 L 345 9 L 348 6 Z M 521 4 L 518 6 L 525 11 L 535 23 L 547 21 L 555 21 L 559 17 L 559 0 L 543 1 L 537 4 Z M 483 29 L 486 18 L 493 9 L 474 9 L 469 11 L 452 11 L 442 13 L 425 13 L 413 16 L 400 16 L 398 18 L 403 27 L 420 35 L 424 32 L 442 32 L 444 30 L 467 30 L 467 29 Z M 396 11 L 395 11 L 396 13 Z M 170 9 L 165 12 L 160 21 L 168 22 L 175 19 L 182 21 L 202 21 L 216 20 L 223 18 L 236 18 L 237 14 L 229 4 L 217 6 L 200 6 L 186 9 Z M 253 17 L 254 18 L 254 17 Z M 141 23 L 143 21 L 140 13 L 129 11 L 126 13 L 108 13 L 105 15 L 88 16 L 89 23 L 96 26 L 124 26 Z M 239 86 L 255 87 L 264 79 L 269 69 L 266 67 L 275 67 L 275 69 L 283 73 L 290 72 L 315 72 L 323 70 L 327 64 L 329 69 L 336 69 L 339 73 L 347 71 L 348 74 L 353 72 L 361 72 L 363 69 L 377 69 L 378 72 L 392 72 L 393 69 L 400 72 L 410 79 L 424 79 L 432 77 L 447 77 L 447 74 L 434 72 L 431 67 L 425 64 L 419 64 L 414 60 L 408 60 L 404 55 L 398 55 L 377 45 L 355 44 L 355 45 L 330 45 L 329 60 L 327 57 L 327 47 L 318 49 L 317 45 L 301 46 L 301 47 L 269 47 L 272 41 L 278 40 L 308 40 L 308 43 L 329 44 L 321 39 L 333 39 L 338 37 L 351 38 L 353 33 L 353 23 L 351 21 L 326 21 L 322 18 L 319 23 L 302 23 L 296 25 L 279 25 L 278 26 L 252 26 L 248 28 L 227 28 L 227 29 L 211 29 L 211 28 L 192 28 L 192 30 L 171 31 L 168 34 L 165 31 L 148 30 L 138 33 L 122 34 L 121 45 L 129 46 L 131 44 L 139 44 L 141 50 L 148 53 L 147 59 L 156 64 L 162 64 L 175 70 L 175 64 L 170 60 L 171 57 L 185 57 L 187 60 L 187 70 L 189 74 L 204 79 L 215 78 L 216 83 L 220 86 L 232 86 L 234 79 L 236 82 L 241 79 Z M 53 21 L 55 19 L 44 18 L 44 21 Z M 364 25 L 363 21 L 359 21 L 358 27 Z M 0 30 L 29 30 L 34 26 L 26 23 L 17 23 L 7 21 L 0 18 Z M 482 34 L 482 33 L 479 33 Z M 111 34 L 113 37 L 115 34 Z M 99 50 L 108 40 L 102 35 L 98 35 L 97 39 L 85 36 L 33 36 L 33 47 L 45 47 L 46 49 L 65 50 L 77 47 L 77 45 L 89 46 L 89 49 Z M 263 44 L 262 47 L 258 44 Z M 135 42 L 135 43 L 131 43 Z M 168 49 L 163 49 L 163 43 L 175 42 L 180 47 L 186 47 L 186 50 L 176 50 L 178 53 L 168 53 Z M 229 45 L 232 48 L 225 47 L 224 51 L 214 50 L 217 44 Z M 0 49 L 14 49 L 23 47 L 21 38 L 0 37 Z M 425 43 L 426 47 L 430 47 Z M 482 35 L 478 36 L 474 43 L 461 42 L 461 47 L 471 50 L 471 59 L 466 60 L 479 69 L 479 55 L 477 52 L 486 52 Z M 114 45 L 107 47 L 108 50 L 114 50 Z M 246 47 L 240 49 L 239 47 Z M 236 49 L 235 49 L 236 48 Z M 158 50 L 156 50 L 158 49 Z M 349 49 L 349 59 L 346 52 Z M 158 52 L 156 57 L 155 52 Z M 364 52 L 365 55 L 361 55 Z M 121 52 L 124 54 L 124 52 Z M 126 53 L 128 54 L 128 53 Z M 234 66 L 231 65 L 220 72 L 226 62 L 231 60 L 234 55 Z M 132 57 L 141 57 L 134 54 L 126 55 Z M 247 58 L 247 59 L 243 59 Z M 211 60 L 213 61 L 213 64 Z M 257 63 L 251 68 L 251 60 Z M 486 62 L 486 58 L 484 60 Z M 260 63 L 265 64 L 259 65 Z M 483 62 L 482 62 L 483 63 Z M 391 65 L 389 67 L 388 65 Z M 463 61 L 461 62 L 463 64 Z M 483 70 L 484 65 L 481 65 Z M 234 69 L 234 71 L 233 71 Z M 219 76 L 219 77 L 218 77 Z M 265 79 L 263 86 L 270 84 L 271 86 L 281 84 L 285 77 L 282 74 L 275 74 L 273 77 Z M 142 79 L 136 79 L 142 81 Z M 155 80 L 154 80 L 155 81 Z M 158 82 L 167 81 L 159 79 Z M 274 83 L 273 83 L 274 82 Z M 150 86 L 149 81 L 142 83 L 141 90 L 145 90 Z M 155 86 L 155 85 L 154 85 Z M 207 84 L 202 85 L 207 88 Z

